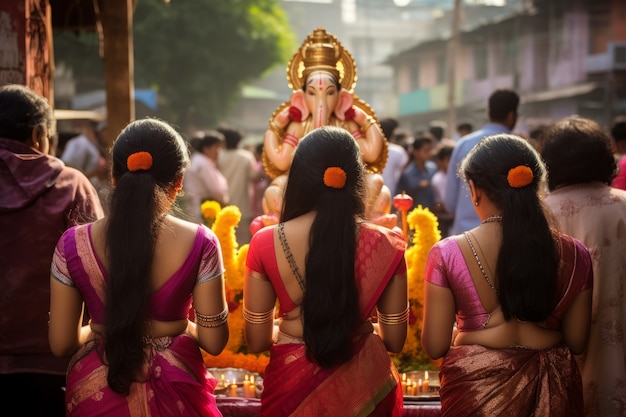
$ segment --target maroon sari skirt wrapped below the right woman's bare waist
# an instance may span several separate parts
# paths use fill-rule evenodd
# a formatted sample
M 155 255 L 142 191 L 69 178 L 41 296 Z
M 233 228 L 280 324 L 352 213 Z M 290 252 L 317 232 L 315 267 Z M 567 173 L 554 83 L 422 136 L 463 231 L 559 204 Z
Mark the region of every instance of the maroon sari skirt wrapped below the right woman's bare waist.
M 546 350 L 453 346 L 439 375 L 442 417 L 583 415 L 580 372 L 563 344 Z

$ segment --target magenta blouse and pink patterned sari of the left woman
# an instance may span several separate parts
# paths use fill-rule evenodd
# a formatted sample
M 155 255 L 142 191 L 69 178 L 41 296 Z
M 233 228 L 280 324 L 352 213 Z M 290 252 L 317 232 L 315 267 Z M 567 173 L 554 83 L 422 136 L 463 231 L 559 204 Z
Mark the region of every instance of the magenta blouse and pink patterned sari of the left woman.
M 153 295 L 149 312 L 163 320 L 186 317 L 198 276 L 222 272 L 217 240 L 200 227 L 185 263 Z M 52 275 L 81 291 L 92 322 L 104 321 L 106 271 L 91 244 L 90 225 L 68 230 L 59 240 Z M 213 395 L 217 380 L 206 370 L 196 341 L 187 334 L 147 338 L 143 374 L 130 394 L 109 388 L 101 339 L 82 345 L 72 356 L 65 392 L 68 417 L 221 417 Z

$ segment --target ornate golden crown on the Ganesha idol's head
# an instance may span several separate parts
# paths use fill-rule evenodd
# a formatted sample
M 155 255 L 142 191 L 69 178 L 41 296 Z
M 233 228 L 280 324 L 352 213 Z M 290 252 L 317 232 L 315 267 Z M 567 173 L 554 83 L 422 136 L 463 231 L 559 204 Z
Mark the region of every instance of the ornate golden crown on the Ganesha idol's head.
M 335 36 L 323 28 L 316 28 L 289 61 L 289 88 L 302 88 L 307 77 L 318 71 L 332 74 L 341 87 L 348 91 L 352 91 L 356 85 L 356 65 L 352 55 Z

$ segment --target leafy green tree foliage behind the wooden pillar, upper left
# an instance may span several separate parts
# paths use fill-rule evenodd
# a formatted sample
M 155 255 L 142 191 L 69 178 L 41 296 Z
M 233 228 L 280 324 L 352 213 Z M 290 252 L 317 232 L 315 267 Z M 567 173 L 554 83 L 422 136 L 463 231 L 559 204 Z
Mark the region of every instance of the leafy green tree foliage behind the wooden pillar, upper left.
M 76 78 L 100 75 L 101 63 L 84 62 L 98 54 L 95 35 L 80 38 L 55 36 L 57 62 Z M 135 87 L 156 89 L 157 116 L 183 127 L 222 120 L 243 84 L 285 65 L 295 49 L 280 0 L 138 0 L 133 38 Z

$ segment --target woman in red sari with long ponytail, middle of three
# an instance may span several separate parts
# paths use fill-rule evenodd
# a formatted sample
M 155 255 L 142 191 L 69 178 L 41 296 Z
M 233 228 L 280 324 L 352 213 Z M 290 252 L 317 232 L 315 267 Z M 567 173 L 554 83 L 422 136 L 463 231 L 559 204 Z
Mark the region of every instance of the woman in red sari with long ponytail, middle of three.
M 248 348 L 270 350 L 264 416 L 401 415 L 387 350 L 406 338 L 406 241 L 361 220 L 364 172 L 349 132 L 312 131 L 296 149 L 281 223 L 250 241 L 243 316 Z

